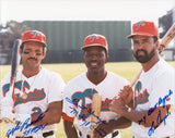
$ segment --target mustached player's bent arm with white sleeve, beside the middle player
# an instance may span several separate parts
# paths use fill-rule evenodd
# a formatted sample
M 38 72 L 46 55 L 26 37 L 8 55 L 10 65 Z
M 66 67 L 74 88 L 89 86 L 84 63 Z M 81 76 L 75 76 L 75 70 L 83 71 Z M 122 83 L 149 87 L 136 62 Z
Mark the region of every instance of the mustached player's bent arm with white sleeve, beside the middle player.
M 65 81 L 58 74 L 54 73 L 50 76 L 50 85 L 48 90 L 48 106 L 47 110 L 40 114 L 32 114 L 31 122 L 33 125 L 50 125 L 59 123 L 62 113 L 62 91 Z

